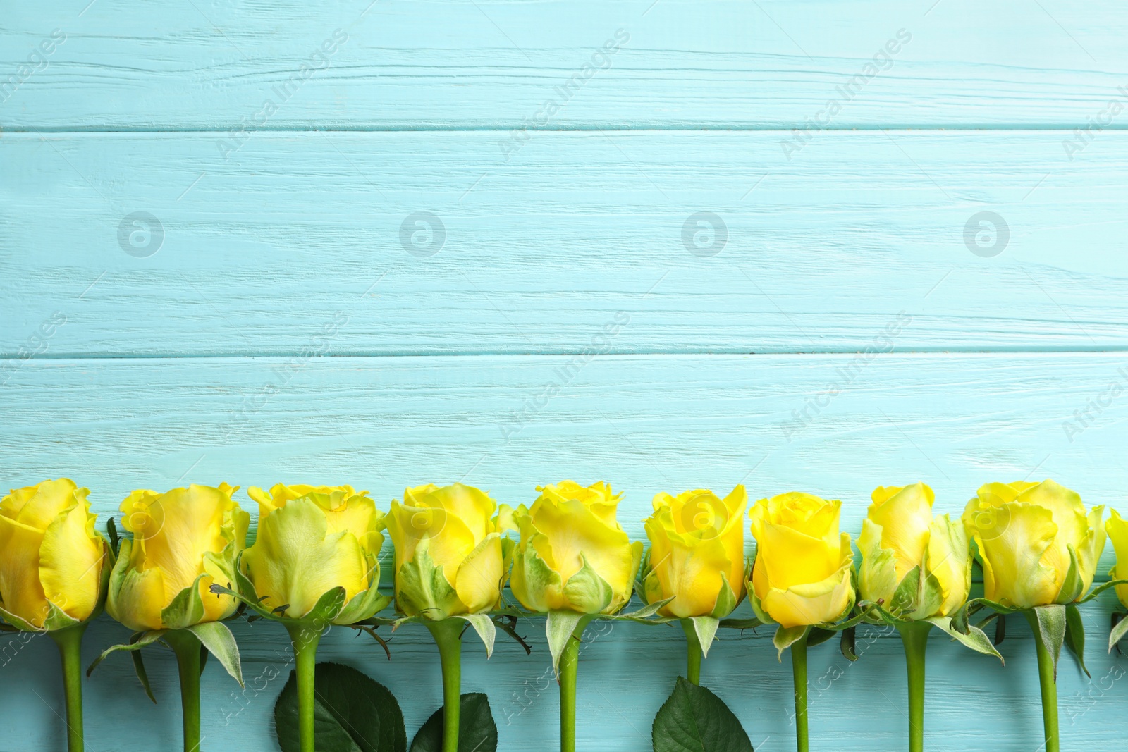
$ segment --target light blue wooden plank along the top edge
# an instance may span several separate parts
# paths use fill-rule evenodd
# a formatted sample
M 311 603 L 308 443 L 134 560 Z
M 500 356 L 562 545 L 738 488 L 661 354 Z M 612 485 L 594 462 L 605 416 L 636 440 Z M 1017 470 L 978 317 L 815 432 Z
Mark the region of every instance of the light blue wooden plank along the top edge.
M 1122 127 L 1126 34 L 1117 0 L 24 3 L 0 127 Z

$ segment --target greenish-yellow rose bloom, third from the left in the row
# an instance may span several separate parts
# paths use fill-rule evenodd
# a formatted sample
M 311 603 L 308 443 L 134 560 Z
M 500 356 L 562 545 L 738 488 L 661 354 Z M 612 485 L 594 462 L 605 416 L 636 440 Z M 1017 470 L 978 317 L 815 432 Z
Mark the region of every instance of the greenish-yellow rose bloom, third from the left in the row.
M 384 608 L 379 593 L 384 513 L 352 486 L 285 486 L 270 494 L 250 487 L 258 503 L 258 536 L 241 566 L 264 608 L 302 619 L 329 591 L 344 590 L 344 608 L 329 617 L 349 625 Z

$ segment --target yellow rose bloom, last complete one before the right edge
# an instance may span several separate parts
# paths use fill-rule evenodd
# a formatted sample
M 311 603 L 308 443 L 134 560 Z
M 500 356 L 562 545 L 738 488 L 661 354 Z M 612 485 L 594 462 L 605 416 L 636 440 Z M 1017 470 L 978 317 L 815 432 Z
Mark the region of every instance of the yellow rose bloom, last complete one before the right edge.
M 963 524 L 984 566 L 984 595 L 1012 609 L 1072 603 L 1093 584 L 1104 549 L 1103 506 L 1052 480 L 989 483 Z

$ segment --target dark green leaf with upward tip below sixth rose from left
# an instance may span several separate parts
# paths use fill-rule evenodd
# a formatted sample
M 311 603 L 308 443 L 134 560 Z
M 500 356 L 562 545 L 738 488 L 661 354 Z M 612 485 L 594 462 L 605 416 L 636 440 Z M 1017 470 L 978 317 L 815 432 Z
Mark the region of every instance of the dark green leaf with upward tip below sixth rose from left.
M 654 716 L 654 752 L 752 752 L 740 720 L 721 698 L 678 676 Z

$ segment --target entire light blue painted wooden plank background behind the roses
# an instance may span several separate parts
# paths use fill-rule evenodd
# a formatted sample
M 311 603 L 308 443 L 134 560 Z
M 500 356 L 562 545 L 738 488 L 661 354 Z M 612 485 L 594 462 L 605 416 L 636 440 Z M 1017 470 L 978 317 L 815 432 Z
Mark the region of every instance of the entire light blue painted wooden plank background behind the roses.
M 1117 0 L 9 3 L 0 483 L 71 475 L 105 516 L 190 481 L 347 481 L 386 507 L 426 481 L 518 503 L 606 478 L 636 538 L 658 490 L 740 481 L 839 497 L 854 532 L 874 486 L 917 479 L 940 511 L 1042 477 L 1128 507 L 1126 34 Z M 964 241 L 981 211 L 1010 232 L 993 257 Z M 133 212 L 156 254 L 120 244 Z M 432 256 L 402 244 L 414 212 L 443 223 Z M 719 254 L 684 245 L 695 212 L 725 223 Z M 1065 750 L 1123 740 L 1113 603 L 1084 610 L 1093 681 L 1063 664 Z M 466 648 L 505 750 L 556 744 L 537 627 L 532 656 Z M 209 666 L 204 747 L 273 750 L 283 634 L 235 631 L 252 689 Z M 1033 647 L 1008 631 L 1005 669 L 933 640 L 928 750 L 1039 749 Z M 125 634 L 99 620 L 88 657 Z M 793 749 L 768 632 L 722 637 L 705 681 L 757 750 Z M 814 749 L 904 749 L 899 643 L 860 645 L 812 651 Z M 337 629 L 320 655 L 388 684 L 412 734 L 438 660 L 420 630 L 393 647 Z M 667 628 L 594 638 L 581 749 L 649 749 L 681 651 Z M 0 750 L 62 749 L 53 645 L 0 654 Z M 156 708 L 125 660 L 87 682 L 91 752 L 175 747 L 171 656 L 149 669 Z

